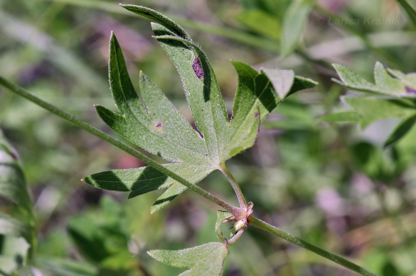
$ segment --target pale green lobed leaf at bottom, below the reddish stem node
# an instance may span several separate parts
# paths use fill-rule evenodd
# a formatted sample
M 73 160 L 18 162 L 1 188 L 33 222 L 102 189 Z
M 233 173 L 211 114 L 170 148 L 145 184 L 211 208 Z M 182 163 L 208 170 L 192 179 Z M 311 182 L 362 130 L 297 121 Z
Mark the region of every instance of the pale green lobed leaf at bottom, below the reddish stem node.
M 179 276 L 219 276 L 223 272 L 228 248 L 220 242 L 210 242 L 181 250 L 151 250 L 150 256 L 163 264 L 189 269 Z

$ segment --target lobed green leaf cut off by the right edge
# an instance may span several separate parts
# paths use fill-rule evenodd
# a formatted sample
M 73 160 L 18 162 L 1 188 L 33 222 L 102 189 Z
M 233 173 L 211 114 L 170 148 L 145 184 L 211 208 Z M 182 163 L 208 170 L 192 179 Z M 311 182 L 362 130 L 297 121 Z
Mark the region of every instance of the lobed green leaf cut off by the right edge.
M 373 84 L 347 67 L 334 64 L 334 68 L 341 81 L 332 79 L 333 81 L 366 94 L 343 97 L 354 110 L 329 113 L 321 117 L 320 121 L 359 123 L 362 128 L 366 128 L 379 119 L 403 118 L 386 140 L 385 146 L 395 143 L 410 130 L 416 116 L 416 73 L 404 74 L 376 62 Z

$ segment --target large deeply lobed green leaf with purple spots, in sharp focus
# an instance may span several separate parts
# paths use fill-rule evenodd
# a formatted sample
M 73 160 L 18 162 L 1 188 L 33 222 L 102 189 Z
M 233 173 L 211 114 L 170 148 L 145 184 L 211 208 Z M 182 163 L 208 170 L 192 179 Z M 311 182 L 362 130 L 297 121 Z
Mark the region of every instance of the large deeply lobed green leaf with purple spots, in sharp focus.
M 151 26 L 155 38 L 178 69 L 199 133 L 143 73 L 139 78 L 141 96 L 136 93 L 114 34 L 110 39 L 109 79 L 119 113 L 96 106 L 97 113 L 131 143 L 172 162 L 163 166 L 193 184 L 220 168 L 225 160 L 253 146 L 260 122 L 282 99 L 317 84 L 295 76 L 291 70 L 258 72 L 243 62 L 233 61 L 238 88 L 229 121 L 208 58 L 182 27 L 149 8 L 122 6 L 154 21 Z M 151 167 L 96 173 L 83 181 L 106 190 L 129 191 L 129 198 L 167 188 L 151 212 L 166 206 L 186 190 Z

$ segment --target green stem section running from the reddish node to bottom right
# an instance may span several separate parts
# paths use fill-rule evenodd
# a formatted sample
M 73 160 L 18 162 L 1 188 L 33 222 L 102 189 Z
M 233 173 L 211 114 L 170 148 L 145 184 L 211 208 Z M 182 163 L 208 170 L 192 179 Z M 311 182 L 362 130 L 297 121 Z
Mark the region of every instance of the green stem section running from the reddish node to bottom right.
M 363 267 L 354 264 L 340 256 L 337 256 L 335 254 L 329 253 L 328 251 L 319 248 L 317 246 L 314 246 L 313 244 L 310 244 L 309 242 L 305 242 L 302 239 L 299 239 L 292 234 L 289 234 L 283 230 L 280 230 L 279 228 L 276 228 L 266 222 L 263 222 L 262 220 L 250 216 L 249 218 L 250 225 L 253 225 L 255 227 L 258 227 L 260 229 L 263 229 L 267 232 L 270 232 L 272 234 L 275 234 L 278 237 L 281 237 L 282 239 L 287 240 L 288 242 L 291 242 L 293 244 L 299 245 L 309 251 L 314 252 L 315 254 L 318 254 L 324 258 L 327 258 L 330 261 L 333 261 L 341 266 L 344 266 L 347 269 L 351 269 L 352 271 L 358 272 L 359 274 L 362 274 L 364 276 L 379 276 L 378 274 L 375 274 L 374 272 L 371 272 L 369 270 L 364 269 Z

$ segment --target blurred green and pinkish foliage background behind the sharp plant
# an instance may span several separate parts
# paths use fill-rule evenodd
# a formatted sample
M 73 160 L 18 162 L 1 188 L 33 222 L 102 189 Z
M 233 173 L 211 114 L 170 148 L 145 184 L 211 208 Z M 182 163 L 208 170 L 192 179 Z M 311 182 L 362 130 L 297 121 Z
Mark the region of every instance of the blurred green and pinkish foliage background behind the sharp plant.
M 149 21 L 117 4 L 0 0 L 0 74 L 116 135 L 93 108 L 93 104 L 113 106 L 107 80 L 112 30 L 134 85 L 143 70 L 192 121 L 180 77 L 151 38 Z M 364 130 L 317 120 L 345 106 L 339 96 L 349 93 L 330 81 L 336 77 L 332 62 L 369 81 L 377 60 L 406 73 L 416 71 L 415 29 L 396 1 L 129 0 L 126 4 L 162 12 L 199 42 L 229 112 L 237 83 L 230 59 L 257 69 L 293 69 L 319 81 L 315 89 L 281 103 L 262 124 L 256 145 L 228 161 L 228 167 L 247 200 L 254 202 L 257 217 L 382 276 L 416 275 L 416 128 L 383 149 L 400 118 L 379 120 Z M 368 17 L 397 23 L 364 24 Z M 359 24 L 336 24 L 337 19 Z M 146 251 L 215 241 L 218 207 L 191 191 L 151 215 L 160 191 L 127 200 L 127 193 L 81 182 L 92 173 L 144 164 L 4 89 L 0 125 L 23 160 L 37 219 L 37 268 L 23 267 L 20 275 L 174 276 L 183 270 L 158 263 Z M 218 172 L 199 185 L 237 203 Z M 13 214 L 6 203 L 0 207 Z M 4 252 L 7 246 L 2 241 Z M 230 247 L 223 275 L 356 274 L 250 227 Z

